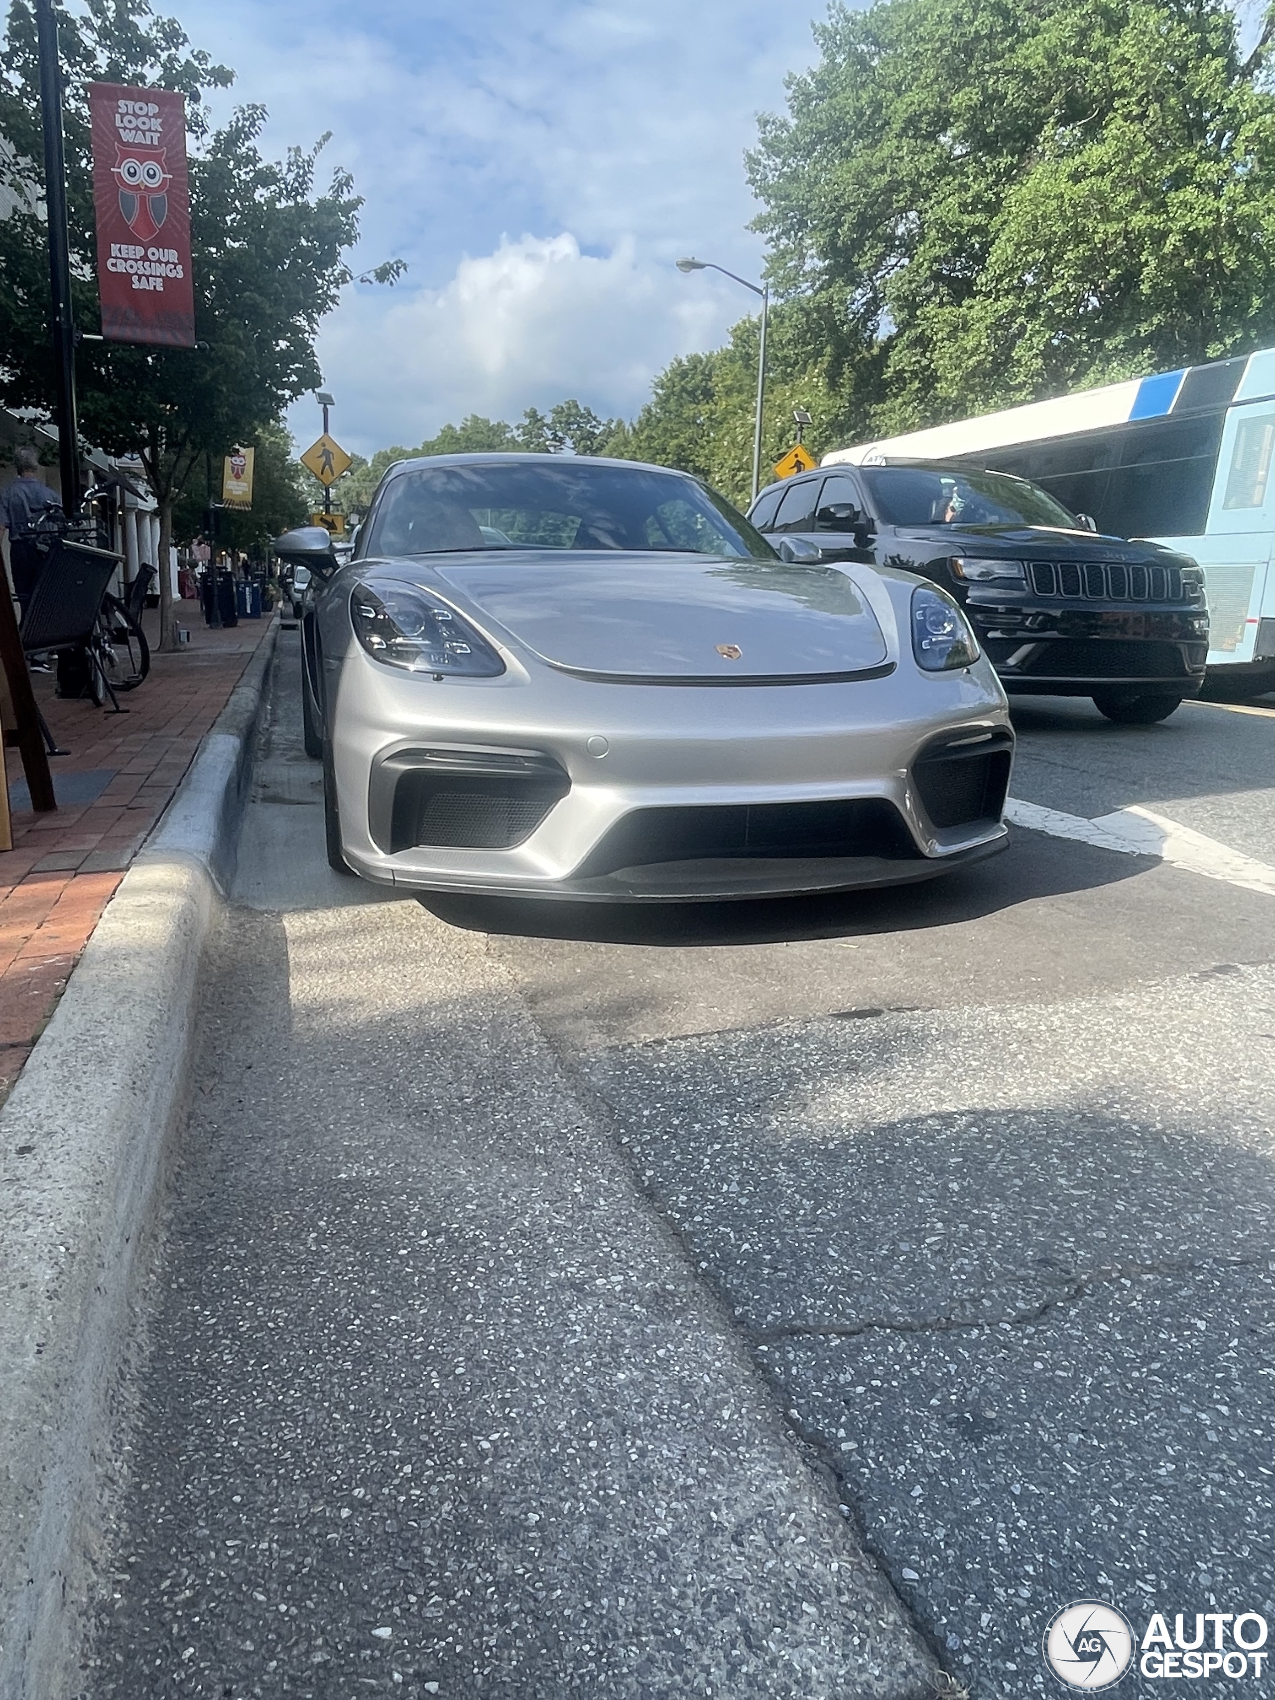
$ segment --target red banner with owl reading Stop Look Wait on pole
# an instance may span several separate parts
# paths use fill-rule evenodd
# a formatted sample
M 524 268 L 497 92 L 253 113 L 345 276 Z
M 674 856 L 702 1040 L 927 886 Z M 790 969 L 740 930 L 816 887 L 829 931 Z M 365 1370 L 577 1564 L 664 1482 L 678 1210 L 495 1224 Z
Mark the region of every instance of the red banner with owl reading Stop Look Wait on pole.
M 185 95 L 90 83 L 102 335 L 194 348 Z

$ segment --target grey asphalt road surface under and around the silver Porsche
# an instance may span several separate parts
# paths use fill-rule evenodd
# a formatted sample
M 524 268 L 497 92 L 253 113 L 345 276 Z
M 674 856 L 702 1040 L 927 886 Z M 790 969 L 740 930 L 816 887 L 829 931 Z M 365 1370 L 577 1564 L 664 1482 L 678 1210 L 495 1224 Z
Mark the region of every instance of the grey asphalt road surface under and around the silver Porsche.
M 1017 1700 L 1069 1600 L 1275 1622 L 1275 898 L 1015 830 L 867 898 L 386 901 L 291 651 L 94 1700 Z M 1275 864 L 1270 702 L 1015 719 L 1017 797 Z

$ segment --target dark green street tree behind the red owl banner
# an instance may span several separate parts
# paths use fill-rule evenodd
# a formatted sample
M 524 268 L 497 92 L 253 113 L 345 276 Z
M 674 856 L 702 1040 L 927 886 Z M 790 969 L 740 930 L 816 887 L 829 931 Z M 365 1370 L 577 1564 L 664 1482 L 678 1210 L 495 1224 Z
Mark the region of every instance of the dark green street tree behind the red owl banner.
M 252 442 L 321 377 L 314 333 L 350 279 L 345 252 L 360 207 L 345 172 L 316 189 L 323 146 L 262 158 L 265 109 L 238 109 L 212 131 L 201 97 L 231 71 L 190 49 L 180 26 L 148 0 L 85 0 L 58 10 L 66 73 L 66 190 L 75 314 L 97 330 L 92 153 L 85 85 L 92 80 L 177 88 L 187 97 L 190 238 L 197 348 L 80 343 L 76 379 L 85 437 L 107 452 L 139 450 L 160 508 L 167 559 L 173 505 L 235 444 Z M 42 194 L 39 70 L 31 0 L 12 0 L 0 73 L 0 136 L 12 187 Z M 46 408 L 53 394 L 46 333 L 48 265 L 39 212 L 0 223 L 0 400 Z M 398 275 L 391 264 L 376 274 Z M 168 575 L 160 575 L 162 643 L 175 643 Z

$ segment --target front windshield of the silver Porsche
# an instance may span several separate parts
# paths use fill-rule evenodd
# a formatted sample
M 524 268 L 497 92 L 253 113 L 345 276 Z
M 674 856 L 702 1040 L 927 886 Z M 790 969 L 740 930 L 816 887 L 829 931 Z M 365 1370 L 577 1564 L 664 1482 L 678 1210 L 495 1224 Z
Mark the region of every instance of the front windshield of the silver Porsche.
M 360 554 L 638 549 L 775 559 L 760 532 L 695 479 L 549 456 L 536 466 L 508 459 L 401 473 L 366 532 Z

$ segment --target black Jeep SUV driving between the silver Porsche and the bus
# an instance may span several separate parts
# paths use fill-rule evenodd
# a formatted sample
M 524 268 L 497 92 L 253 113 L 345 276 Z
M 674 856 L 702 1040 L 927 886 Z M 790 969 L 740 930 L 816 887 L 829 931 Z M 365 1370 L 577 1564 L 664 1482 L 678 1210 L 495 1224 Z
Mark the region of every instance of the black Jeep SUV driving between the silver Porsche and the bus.
M 1010 692 L 1093 697 L 1139 726 L 1198 695 L 1202 568 L 1095 536 L 1025 478 L 937 461 L 830 466 L 763 490 L 748 517 L 792 554 L 814 546 L 824 561 L 898 566 L 954 592 Z

